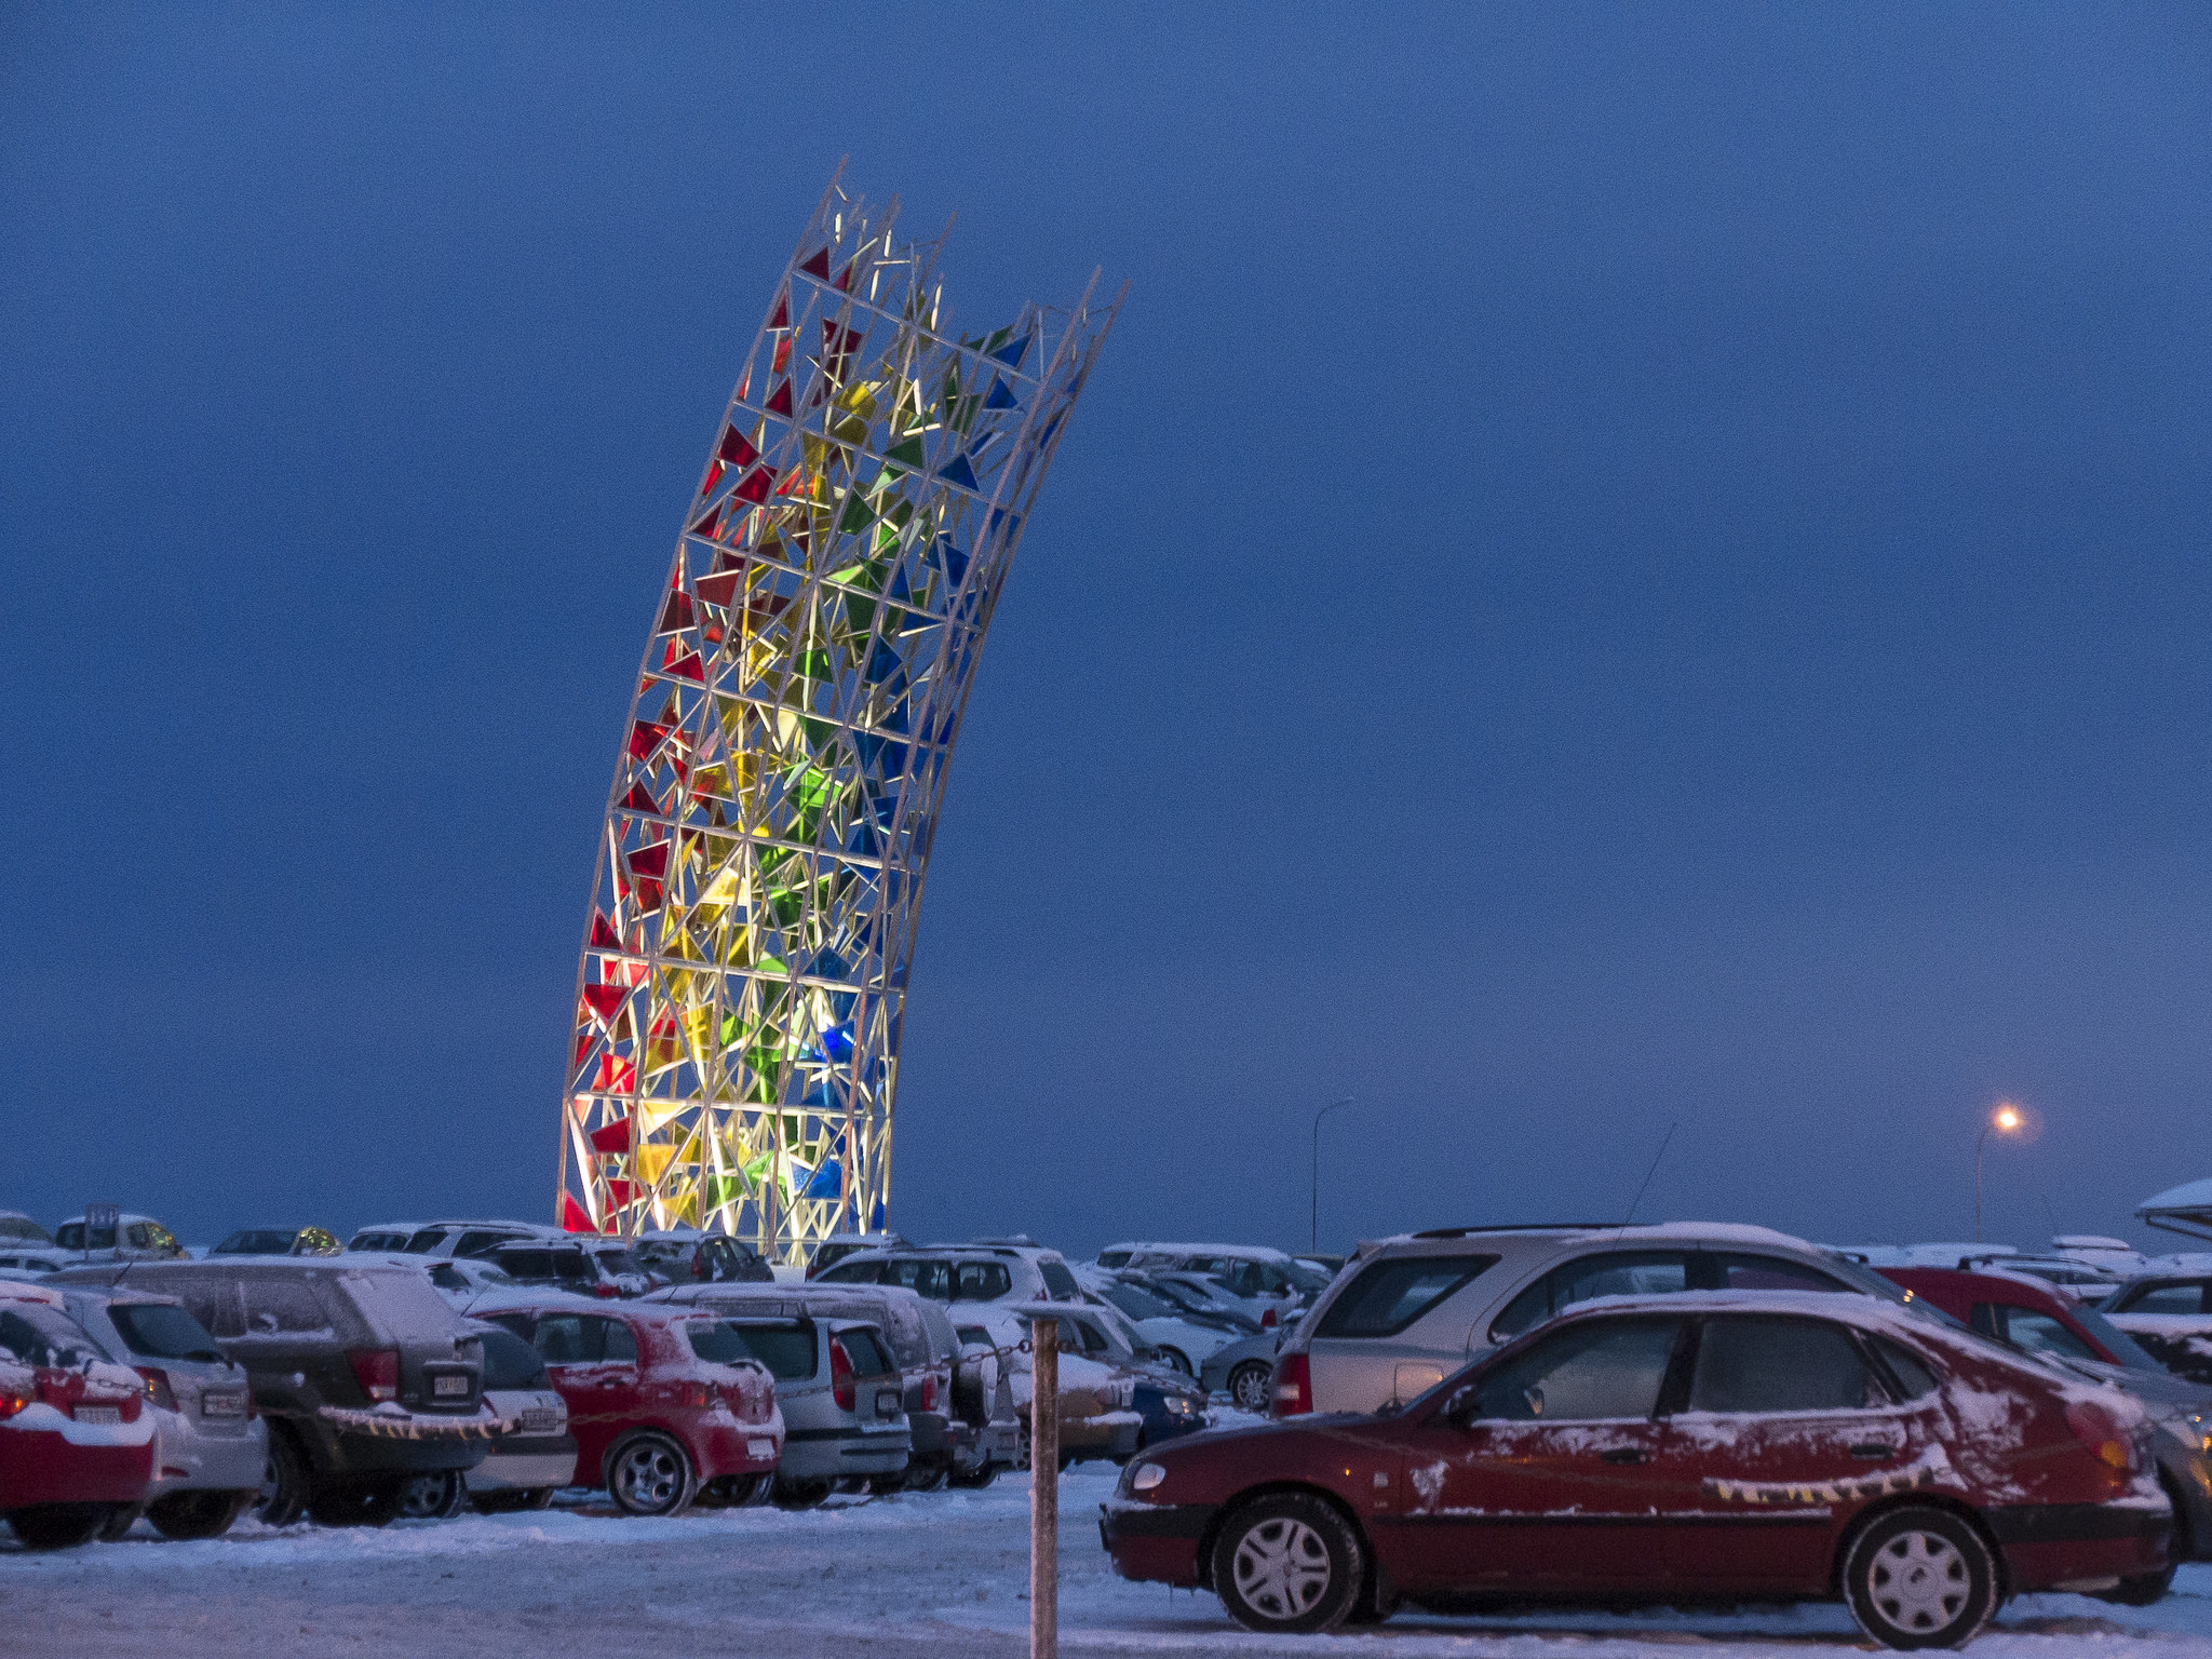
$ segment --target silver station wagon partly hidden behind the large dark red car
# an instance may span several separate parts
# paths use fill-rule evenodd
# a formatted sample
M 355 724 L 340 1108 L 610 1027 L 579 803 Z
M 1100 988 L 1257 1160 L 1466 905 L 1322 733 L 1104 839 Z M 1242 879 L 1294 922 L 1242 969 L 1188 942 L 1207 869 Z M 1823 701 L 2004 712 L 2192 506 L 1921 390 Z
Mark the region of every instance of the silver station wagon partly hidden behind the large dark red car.
M 1767 1228 L 1442 1228 L 1365 1245 L 1283 1343 L 1274 1416 L 1380 1411 L 1575 1303 L 1686 1290 L 1905 1301 L 1854 1261 Z

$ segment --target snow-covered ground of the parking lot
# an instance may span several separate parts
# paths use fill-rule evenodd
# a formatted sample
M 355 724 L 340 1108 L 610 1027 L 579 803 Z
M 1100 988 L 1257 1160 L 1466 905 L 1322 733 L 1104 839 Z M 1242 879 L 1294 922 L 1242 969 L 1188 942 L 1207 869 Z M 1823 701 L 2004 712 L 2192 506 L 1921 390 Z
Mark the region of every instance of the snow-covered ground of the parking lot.
M 1741 1617 L 1568 1613 L 1436 1619 L 1272 1641 L 1210 1595 L 1113 1577 L 1097 1504 L 1115 1471 L 1062 1482 L 1062 1646 L 1071 1652 L 1374 1652 L 1389 1659 L 1805 1659 L 1860 1644 L 1843 1608 Z M 139 1526 L 60 1555 L 0 1546 L 0 1652 L 409 1655 L 630 1659 L 672 1652 L 929 1655 L 1026 1646 L 1029 1482 L 783 1515 L 772 1509 L 624 1520 L 599 1504 L 535 1515 L 400 1522 L 383 1531 L 241 1524 L 208 1544 Z M 2181 1571 L 2154 1608 L 2073 1595 L 2013 1601 L 1973 1646 L 1984 1659 L 2212 1659 L 2212 1566 Z

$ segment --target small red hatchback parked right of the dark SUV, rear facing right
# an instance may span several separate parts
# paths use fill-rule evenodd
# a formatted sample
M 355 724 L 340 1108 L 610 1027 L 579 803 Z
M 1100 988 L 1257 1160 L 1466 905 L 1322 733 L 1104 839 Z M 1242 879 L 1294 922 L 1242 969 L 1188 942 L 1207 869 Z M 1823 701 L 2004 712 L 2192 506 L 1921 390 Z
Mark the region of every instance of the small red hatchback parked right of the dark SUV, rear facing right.
M 538 1349 L 568 1402 L 580 1486 L 606 1486 L 630 1515 L 768 1495 L 783 1455 L 776 1380 L 723 1321 L 571 1298 L 471 1312 Z

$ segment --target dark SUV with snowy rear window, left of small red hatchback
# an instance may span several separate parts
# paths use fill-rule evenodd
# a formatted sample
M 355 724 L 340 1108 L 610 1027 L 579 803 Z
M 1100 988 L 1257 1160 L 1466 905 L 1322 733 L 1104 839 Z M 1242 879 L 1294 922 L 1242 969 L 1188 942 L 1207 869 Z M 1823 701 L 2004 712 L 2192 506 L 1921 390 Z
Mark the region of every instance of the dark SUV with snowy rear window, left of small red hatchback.
M 491 1444 L 482 1347 L 418 1267 L 230 1256 L 71 1267 L 49 1283 L 175 1296 L 241 1365 L 270 1455 L 257 1515 L 385 1524 L 411 1475 L 473 1469 Z

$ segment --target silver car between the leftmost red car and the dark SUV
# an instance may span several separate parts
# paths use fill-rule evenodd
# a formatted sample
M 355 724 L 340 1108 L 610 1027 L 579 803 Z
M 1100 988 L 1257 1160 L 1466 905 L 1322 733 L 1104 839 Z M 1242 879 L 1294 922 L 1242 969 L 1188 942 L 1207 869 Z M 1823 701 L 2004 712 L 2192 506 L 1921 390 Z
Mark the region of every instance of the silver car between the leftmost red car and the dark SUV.
M 217 1537 L 261 1495 L 268 1429 L 246 1371 L 175 1296 L 62 1287 L 62 1310 L 146 1378 L 155 1460 L 144 1513 L 166 1537 Z M 135 1513 L 117 1517 L 122 1535 Z

